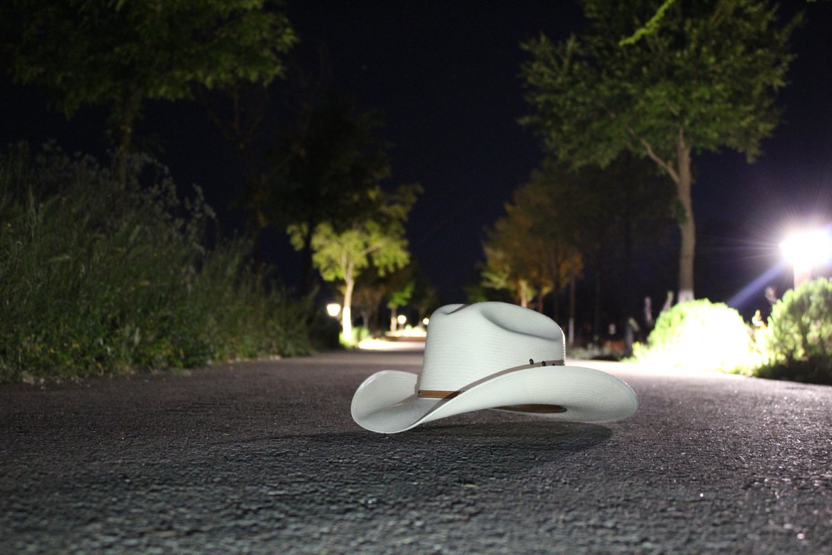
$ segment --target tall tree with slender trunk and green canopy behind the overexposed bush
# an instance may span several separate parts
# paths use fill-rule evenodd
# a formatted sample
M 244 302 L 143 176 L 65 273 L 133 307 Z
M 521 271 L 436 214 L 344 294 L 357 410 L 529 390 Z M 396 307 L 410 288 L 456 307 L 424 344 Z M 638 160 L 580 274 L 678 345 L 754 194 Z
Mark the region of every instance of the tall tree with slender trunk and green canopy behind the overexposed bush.
M 622 151 L 644 156 L 676 186 L 681 230 L 680 300 L 693 297 L 696 227 L 691 156 L 729 147 L 749 161 L 775 129 L 776 93 L 793 59 L 790 34 L 759 0 L 582 0 L 587 30 L 564 42 L 541 35 L 522 47 L 527 102 L 522 123 L 573 166 L 607 165 Z M 651 32 L 622 46 L 637 27 Z

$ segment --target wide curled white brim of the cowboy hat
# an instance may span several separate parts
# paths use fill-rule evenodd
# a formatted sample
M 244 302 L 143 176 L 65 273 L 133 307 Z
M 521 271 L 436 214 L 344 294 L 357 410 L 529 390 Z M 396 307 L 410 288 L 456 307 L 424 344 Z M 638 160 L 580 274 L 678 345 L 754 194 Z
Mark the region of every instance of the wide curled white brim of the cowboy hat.
M 547 419 L 602 423 L 626 419 L 638 409 L 636 394 L 621 379 L 580 366 L 535 366 L 463 389 L 451 399 L 422 399 L 418 375 L 399 370 L 373 374 L 355 391 L 353 419 L 380 434 L 396 434 L 436 419 L 482 409 L 556 405 L 563 412 L 528 412 Z M 518 410 L 521 409 L 521 410 Z

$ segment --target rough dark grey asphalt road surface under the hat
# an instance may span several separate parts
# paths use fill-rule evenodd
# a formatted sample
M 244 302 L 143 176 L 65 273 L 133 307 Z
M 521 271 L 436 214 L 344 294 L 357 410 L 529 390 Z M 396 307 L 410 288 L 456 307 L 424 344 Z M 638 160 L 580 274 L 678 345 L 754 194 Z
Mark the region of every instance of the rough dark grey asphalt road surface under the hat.
M 583 363 L 630 419 L 349 415 L 421 354 L 0 387 L 0 553 L 832 553 L 832 387 Z

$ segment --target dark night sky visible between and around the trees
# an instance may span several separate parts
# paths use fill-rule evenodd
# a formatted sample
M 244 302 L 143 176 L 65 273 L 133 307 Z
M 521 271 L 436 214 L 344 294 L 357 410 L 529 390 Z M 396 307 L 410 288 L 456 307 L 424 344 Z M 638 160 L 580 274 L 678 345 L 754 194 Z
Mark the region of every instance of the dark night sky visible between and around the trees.
M 775 265 L 777 242 L 790 225 L 832 221 L 832 2 L 788 2 L 784 12 L 796 8 L 805 10 L 806 23 L 792 40 L 799 57 L 780 95 L 785 122 L 763 142 L 763 155 L 753 165 L 730 151 L 695 158 L 697 297 L 730 300 Z M 305 0 L 289 2 L 286 11 L 303 41 L 293 56 L 306 71 L 316 71 L 325 44 L 329 86 L 384 117 L 380 134 L 394 144 L 387 185 L 418 181 L 425 190 L 408 224 L 414 257 L 443 300 L 464 300 L 462 287 L 477 277 L 474 265 L 483 257 L 483 228 L 542 159 L 537 140 L 517 123 L 528 111 L 519 43 L 538 32 L 560 40 L 579 31 L 580 10 L 572 2 Z M 3 142 L 55 138 L 67 151 L 106 149 L 102 109 L 84 109 L 67 122 L 47 111 L 36 90 L 12 86 L 7 77 L 0 93 Z M 281 117 L 275 114 L 275 125 L 287 123 Z M 240 191 L 239 164 L 201 107 L 150 103 L 141 136 L 161 146 L 159 157 L 180 186 L 206 190 L 226 227 L 242 223 L 225 210 Z M 295 284 L 297 255 L 279 230 L 267 239 L 270 260 Z M 672 240 L 659 250 L 648 253 L 651 260 L 675 263 Z M 650 275 L 638 287 L 663 299 L 676 282 L 675 265 L 646 268 Z M 787 270 L 772 278 L 780 291 L 789 280 Z M 740 308 L 764 303 L 760 290 Z

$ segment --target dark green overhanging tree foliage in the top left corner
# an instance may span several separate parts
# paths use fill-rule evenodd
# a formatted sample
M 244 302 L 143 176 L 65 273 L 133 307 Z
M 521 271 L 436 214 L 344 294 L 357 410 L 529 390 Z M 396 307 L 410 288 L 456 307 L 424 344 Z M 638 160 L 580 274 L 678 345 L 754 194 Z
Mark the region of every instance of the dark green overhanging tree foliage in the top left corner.
M 2 54 L 18 82 L 41 87 L 72 116 L 111 110 L 127 146 L 146 99 L 190 98 L 193 88 L 267 85 L 295 42 L 288 19 L 264 0 L 8 0 Z

